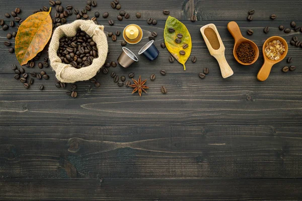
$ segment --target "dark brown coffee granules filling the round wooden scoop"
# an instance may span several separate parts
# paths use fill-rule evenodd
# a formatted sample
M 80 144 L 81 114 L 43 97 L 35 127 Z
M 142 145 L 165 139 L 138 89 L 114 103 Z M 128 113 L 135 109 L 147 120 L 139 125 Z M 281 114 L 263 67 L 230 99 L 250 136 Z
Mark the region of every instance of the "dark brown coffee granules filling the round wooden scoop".
M 243 42 L 236 50 L 238 59 L 243 63 L 252 63 L 256 57 L 254 48 L 250 43 Z

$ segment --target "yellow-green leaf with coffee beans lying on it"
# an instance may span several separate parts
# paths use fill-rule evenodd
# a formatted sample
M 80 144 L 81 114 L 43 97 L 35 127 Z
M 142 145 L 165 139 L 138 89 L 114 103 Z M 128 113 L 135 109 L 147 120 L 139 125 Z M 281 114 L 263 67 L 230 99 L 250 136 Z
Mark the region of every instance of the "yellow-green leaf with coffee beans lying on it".
M 175 29 L 175 32 L 169 32 L 169 28 Z M 175 39 L 177 38 L 177 34 L 182 34 L 181 43 L 176 43 Z M 174 58 L 184 66 L 184 70 L 186 70 L 185 63 L 190 57 L 192 50 L 192 40 L 191 35 L 187 29 L 187 27 L 178 21 L 176 18 L 171 16 L 168 17 L 166 21 L 166 26 L 164 30 L 164 38 L 165 44 L 168 51 L 174 56 Z M 188 44 L 186 49 L 183 49 L 183 45 Z M 181 55 L 179 52 L 183 50 L 185 51 L 185 55 Z

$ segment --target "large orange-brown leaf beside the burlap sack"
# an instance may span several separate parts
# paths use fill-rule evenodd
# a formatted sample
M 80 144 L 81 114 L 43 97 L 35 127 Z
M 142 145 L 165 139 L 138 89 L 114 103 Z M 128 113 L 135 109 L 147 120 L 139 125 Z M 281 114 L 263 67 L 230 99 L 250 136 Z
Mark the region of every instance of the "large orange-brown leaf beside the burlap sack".
M 26 64 L 41 52 L 52 34 L 49 12 L 39 12 L 29 16 L 19 27 L 15 39 L 15 52 L 21 65 Z

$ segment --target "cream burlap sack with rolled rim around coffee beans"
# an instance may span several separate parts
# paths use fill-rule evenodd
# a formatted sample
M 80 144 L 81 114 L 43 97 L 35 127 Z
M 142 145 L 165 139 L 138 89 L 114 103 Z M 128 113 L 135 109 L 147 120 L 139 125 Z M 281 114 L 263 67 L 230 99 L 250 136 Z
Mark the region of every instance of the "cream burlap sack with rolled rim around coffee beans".
M 90 66 L 86 66 L 80 69 L 72 67 L 70 64 L 64 64 L 57 56 L 57 50 L 59 48 L 59 40 L 63 36 L 75 36 L 77 29 L 81 28 L 85 31 L 93 41 L 97 44 L 99 57 L 95 58 Z M 91 20 L 76 20 L 71 24 L 59 26 L 53 32 L 48 54 L 50 65 L 55 71 L 55 76 L 61 82 L 73 83 L 76 81 L 89 80 L 97 74 L 97 71 L 105 63 L 108 52 L 107 37 L 104 33 L 104 26 L 96 25 Z

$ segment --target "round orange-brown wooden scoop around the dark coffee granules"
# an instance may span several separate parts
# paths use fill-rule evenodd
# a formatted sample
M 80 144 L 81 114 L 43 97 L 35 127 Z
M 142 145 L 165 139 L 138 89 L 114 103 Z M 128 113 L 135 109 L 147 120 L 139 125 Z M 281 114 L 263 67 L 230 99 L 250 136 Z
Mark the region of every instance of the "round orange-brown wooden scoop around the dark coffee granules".
M 238 24 L 236 22 L 234 22 L 234 21 L 233 22 L 229 22 L 229 24 L 228 24 L 228 30 L 232 34 L 233 38 L 235 39 L 235 44 L 234 44 L 234 49 L 233 49 L 233 55 L 234 55 L 236 61 L 238 63 L 242 64 L 242 65 L 251 65 L 251 64 L 255 63 L 257 61 L 258 57 L 259 57 L 259 49 L 258 49 L 257 45 L 253 41 L 251 41 L 249 39 L 246 39 L 245 37 L 242 36 L 241 31 L 239 29 L 239 26 L 238 26 Z M 243 63 L 242 61 L 240 61 L 238 59 L 236 51 L 237 51 L 239 45 L 241 43 L 243 43 L 243 42 L 250 43 L 250 45 L 255 50 L 255 54 L 256 54 L 255 55 L 255 59 L 251 63 Z

